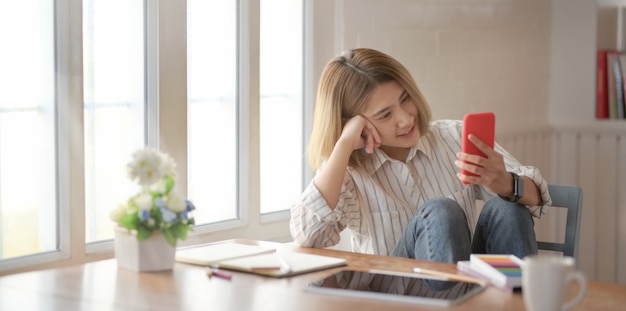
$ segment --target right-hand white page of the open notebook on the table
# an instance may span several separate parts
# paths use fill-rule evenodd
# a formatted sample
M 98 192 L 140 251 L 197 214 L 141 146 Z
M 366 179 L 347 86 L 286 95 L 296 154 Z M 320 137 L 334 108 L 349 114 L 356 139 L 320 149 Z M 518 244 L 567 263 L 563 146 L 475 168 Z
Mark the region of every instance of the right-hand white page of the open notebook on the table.
M 277 252 L 225 260 L 215 267 L 273 277 L 291 276 L 346 265 L 343 258 L 297 252 Z

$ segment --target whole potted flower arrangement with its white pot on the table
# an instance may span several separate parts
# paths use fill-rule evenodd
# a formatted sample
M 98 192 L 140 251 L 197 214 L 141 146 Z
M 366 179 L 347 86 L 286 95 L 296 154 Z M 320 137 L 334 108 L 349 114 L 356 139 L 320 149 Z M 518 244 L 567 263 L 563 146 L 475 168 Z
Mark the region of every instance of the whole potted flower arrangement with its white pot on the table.
M 133 271 L 172 269 L 176 243 L 192 230 L 195 209 L 174 189 L 176 163 L 157 149 L 144 148 L 133 154 L 127 170 L 141 189 L 110 214 L 116 223 L 118 266 Z

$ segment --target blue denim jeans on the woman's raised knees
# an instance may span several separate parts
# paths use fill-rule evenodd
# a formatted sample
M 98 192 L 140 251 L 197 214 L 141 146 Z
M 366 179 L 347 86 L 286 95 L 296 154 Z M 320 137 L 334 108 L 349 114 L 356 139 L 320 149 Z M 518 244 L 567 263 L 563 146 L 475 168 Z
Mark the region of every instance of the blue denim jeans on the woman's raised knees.
M 471 253 L 524 258 L 537 254 L 534 224 L 526 206 L 496 196 L 485 203 L 471 239 L 459 204 L 435 198 L 417 211 L 391 255 L 449 263 Z

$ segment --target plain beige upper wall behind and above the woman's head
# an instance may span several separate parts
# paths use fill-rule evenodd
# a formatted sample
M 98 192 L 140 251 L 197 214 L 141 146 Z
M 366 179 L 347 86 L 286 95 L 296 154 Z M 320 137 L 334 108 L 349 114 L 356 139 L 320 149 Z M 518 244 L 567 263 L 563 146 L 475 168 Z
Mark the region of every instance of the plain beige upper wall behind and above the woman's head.
M 550 2 L 321 2 L 334 4 L 316 20 L 334 21 L 335 54 L 371 47 L 398 58 L 435 118 L 492 110 L 498 133 L 548 126 Z M 323 56 L 317 66 L 333 55 Z

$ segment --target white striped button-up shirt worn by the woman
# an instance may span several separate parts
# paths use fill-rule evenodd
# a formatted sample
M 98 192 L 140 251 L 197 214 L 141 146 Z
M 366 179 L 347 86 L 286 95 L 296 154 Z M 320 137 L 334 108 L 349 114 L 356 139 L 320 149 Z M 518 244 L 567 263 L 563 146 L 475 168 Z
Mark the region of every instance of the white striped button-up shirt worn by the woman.
M 295 242 L 330 247 L 339 243 L 339 233 L 348 228 L 353 251 L 389 255 L 418 207 L 436 197 L 459 203 L 473 235 L 479 213 L 476 200 L 487 201 L 496 194 L 479 185 L 464 185 L 456 177 L 459 169 L 454 161 L 461 150 L 462 127 L 458 120 L 434 121 L 410 149 L 406 163 L 376 148 L 364 166 L 348 168 L 334 210 L 311 181 L 291 207 Z M 539 170 L 522 166 L 497 143 L 495 150 L 503 155 L 507 171 L 527 176 L 539 187 L 543 204 L 528 208 L 535 217 L 545 214 L 552 202 Z

